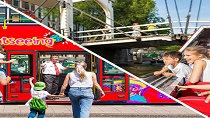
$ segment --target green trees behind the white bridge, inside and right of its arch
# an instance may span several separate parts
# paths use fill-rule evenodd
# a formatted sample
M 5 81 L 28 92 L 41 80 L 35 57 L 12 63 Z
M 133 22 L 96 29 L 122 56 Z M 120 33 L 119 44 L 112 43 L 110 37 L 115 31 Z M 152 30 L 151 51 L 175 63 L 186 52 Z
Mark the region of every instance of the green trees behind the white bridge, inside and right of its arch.
M 103 9 L 91 0 L 89 2 L 81 2 L 74 7 L 105 21 L 105 13 Z M 163 22 L 164 19 L 159 17 L 155 2 L 153 0 L 115 0 L 113 3 L 115 27 L 132 25 L 134 22 L 146 24 L 149 21 Z M 86 16 L 83 13 L 74 10 L 74 23 L 86 27 L 87 29 L 96 29 L 104 27 L 104 24 Z

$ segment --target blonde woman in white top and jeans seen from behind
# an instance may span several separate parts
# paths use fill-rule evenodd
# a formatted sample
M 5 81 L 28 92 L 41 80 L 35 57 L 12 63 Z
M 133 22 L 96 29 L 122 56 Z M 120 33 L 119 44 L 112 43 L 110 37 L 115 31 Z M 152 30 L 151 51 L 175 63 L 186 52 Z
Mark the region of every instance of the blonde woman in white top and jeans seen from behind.
M 74 118 L 89 118 L 90 108 L 94 99 L 93 85 L 101 92 L 102 97 L 105 96 L 97 82 L 96 74 L 86 71 L 86 68 L 87 64 L 85 62 L 76 62 L 75 70 L 66 75 L 60 91 L 60 94 L 64 95 L 64 91 L 69 84 L 68 96 L 71 100 Z

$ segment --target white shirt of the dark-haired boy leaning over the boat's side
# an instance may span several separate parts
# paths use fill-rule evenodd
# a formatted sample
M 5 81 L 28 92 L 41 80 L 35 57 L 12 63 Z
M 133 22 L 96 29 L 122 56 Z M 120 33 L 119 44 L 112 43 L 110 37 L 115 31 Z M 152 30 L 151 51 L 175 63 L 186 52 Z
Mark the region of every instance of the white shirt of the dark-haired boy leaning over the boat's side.
M 168 69 L 171 70 L 172 73 L 176 74 L 177 77 L 184 77 L 186 81 L 188 81 L 192 73 L 190 66 L 184 63 L 179 63 L 176 67 L 168 65 Z

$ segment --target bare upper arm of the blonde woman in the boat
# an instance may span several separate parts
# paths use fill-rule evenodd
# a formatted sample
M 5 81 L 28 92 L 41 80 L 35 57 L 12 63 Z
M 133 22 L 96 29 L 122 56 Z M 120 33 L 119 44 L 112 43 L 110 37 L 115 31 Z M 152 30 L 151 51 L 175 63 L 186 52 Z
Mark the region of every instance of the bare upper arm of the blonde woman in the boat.
M 206 62 L 204 60 L 196 60 L 194 62 L 194 67 L 189 78 L 190 83 L 196 83 L 200 80 L 203 74 L 203 70 L 206 67 Z

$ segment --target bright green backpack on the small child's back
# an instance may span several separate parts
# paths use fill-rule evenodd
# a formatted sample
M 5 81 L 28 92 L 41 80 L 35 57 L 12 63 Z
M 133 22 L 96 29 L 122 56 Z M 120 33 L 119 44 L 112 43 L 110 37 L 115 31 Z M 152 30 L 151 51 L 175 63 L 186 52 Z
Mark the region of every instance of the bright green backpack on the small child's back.
M 46 104 L 42 101 L 41 98 L 33 97 L 29 103 L 29 106 L 38 111 L 44 111 L 47 109 Z

